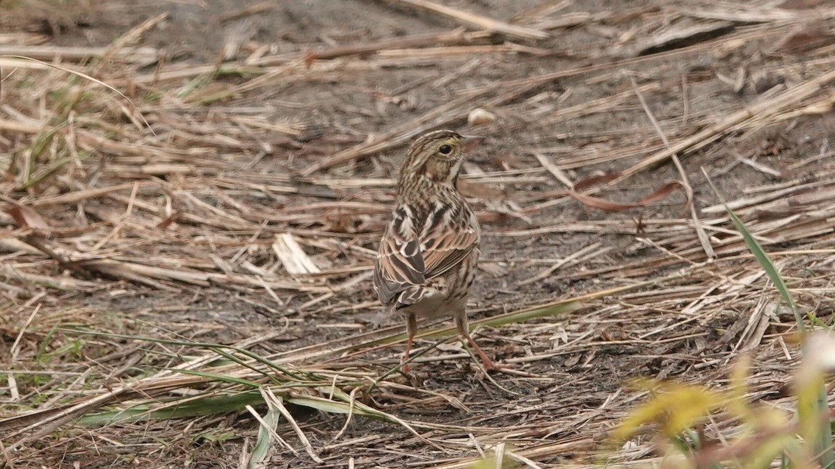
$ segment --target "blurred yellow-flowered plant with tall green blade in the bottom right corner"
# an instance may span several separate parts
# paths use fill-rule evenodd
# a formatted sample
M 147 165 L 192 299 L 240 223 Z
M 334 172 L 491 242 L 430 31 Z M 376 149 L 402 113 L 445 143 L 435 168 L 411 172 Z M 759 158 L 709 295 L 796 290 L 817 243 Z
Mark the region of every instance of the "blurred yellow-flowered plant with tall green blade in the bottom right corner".
M 713 187 L 710 179 L 708 182 Z M 719 195 L 715 187 L 713 190 Z M 746 383 L 751 359 L 743 356 L 731 371 L 727 388 L 654 381 L 641 383 L 650 392 L 650 400 L 620 422 L 613 433 L 613 443 L 623 444 L 646 424 L 654 423 L 658 429 L 655 441 L 660 452 L 665 454 L 663 466 L 766 469 L 781 458 L 783 467 L 832 469 L 835 467 L 832 442 L 835 421 L 827 406 L 825 386 L 827 372 L 835 368 L 832 327 L 812 311 L 805 314 L 809 325 L 804 323 L 804 315 L 777 267 L 724 199 L 721 203 L 757 263 L 795 315 L 803 352 L 794 380 L 796 415 L 749 401 L 751 392 Z M 704 426 L 720 413 L 737 425 L 734 435 L 720 438 L 720 441 L 706 441 Z

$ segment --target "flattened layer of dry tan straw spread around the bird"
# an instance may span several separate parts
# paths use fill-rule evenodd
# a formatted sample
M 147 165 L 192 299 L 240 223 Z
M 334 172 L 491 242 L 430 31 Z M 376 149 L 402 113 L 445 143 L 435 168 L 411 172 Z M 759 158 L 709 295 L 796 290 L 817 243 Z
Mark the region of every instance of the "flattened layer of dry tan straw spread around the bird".
M 748 401 L 795 406 L 792 311 L 700 169 L 831 329 L 835 8 L 387 5 L 475 30 L 271 50 L 237 25 L 215 63 L 159 61 L 164 14 L 104 48 L 0 33 L 0 461 L 660 465 L 651 430 L 609 445 L 631 384 L 723 389 L 743 355 Z M 392 169 L 478 107 L 472 322 L 512 368 L 482 376 L 433 325 L 409 379 L 402 325 L 364 325 Z

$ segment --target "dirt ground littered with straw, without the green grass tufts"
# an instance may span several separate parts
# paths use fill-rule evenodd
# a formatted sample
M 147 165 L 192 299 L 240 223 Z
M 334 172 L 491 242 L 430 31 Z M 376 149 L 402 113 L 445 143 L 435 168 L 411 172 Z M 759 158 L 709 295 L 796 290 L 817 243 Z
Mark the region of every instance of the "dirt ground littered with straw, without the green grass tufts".
M 18 223 L 0 214 L 7 243 L 0 262 L 8 267 L 0 274 L 0 351 L 12 357 L 3 368 L 89 375 L 75 382 L 53 375 L 60 386 L 20 380 L 17 399 L 11 385 L 0 387 L 0 418 L 7 419 L 0 429 L 23 425 L 14 418 L 25 411 L 96 396 L 200 355 L 136 337 L 254 340 L 250 348 L 261 356 L 302 366 L 300 350 L 400 332 L 399 318 L 381 331 L 367 325 L 378 310 L 369 269 L 407 144 L 438 128 L 487 138 L 468 155 L 461 184 L 483 229 L 474 322 L 623 290 L 562 314 L 480 327 L 479 343 L 511 367 L 492 375 L 495 382 L 457 341 L 433 349 L 438 339 L 420 340 L 418 350 L 430 350 L 411 381 L 397 376 L 362 396 L 405 421 L 436 425 L 420 436 L 363 416 L 346 425 L 343 414 L 288 403 L 322 461 L 284 420 L 276 432 L 286 444 L 274 443 L 267 467 L 467 466 L 499 442 L 542 467 L 657 463 L 663 451 L 651 431 L 614 450 L 607 440 L 647 396 L 635 380 L 721 387 L 743 352 L 753 359 L 751 400 L 787 402 L 798 356 L 784 339 L 794 330 L 792 312 L 778 305 L 705 174 L 769 252 L 789 253 L 775 259 L 798 303 L 831 327 L 832 81 L 792 103 L 778 98 L 832 71 L 835 15 L 821 13 L 832 8 L 696 0 L 444 4 L 547 37 L 484 33 L 405 2 L 371 0 L 9 6 L 0 33 L 46 34 L 43 50 L 109 46 L 167 16 L 129 43 L 154 49 L 153 60 L 111 57 L 114 67 L 94 73 L 137 103 L 154 134 L 125 118 L 111 97 L 90 105 L 109 127 L 85 122 L 81 111 L 73 119 L 78 129 L 133 149 L 88 141 L 79 148 L 89 156 L 49 184 L 21 189 L 19 174 L 7 170 L 0 185 L 5 198 L 64 229 L 56 242 L 99 265 L 89 267 L 94 275 L 76 275 L 43 252 L 9 244 L 21 236 Z M 450 37 L 434 36 L 444 33 Z M 373 47 L 357 53 L 367 44 Z M 58 71 L 48 73 L 58 80 Z M 4 83 L 0 118 L 43 119 L 38 100 L 14 83 Z M 474 108 L 496 120 L 469 125 Z M 6 169 L 34 137 L 0 127 Z M 654 159 L 665 149 L 660 134 L 675 146 L 700 133 L 677 150 L 683 174 L 669 157 Z M 347 156 L 334 162 L 334 155 Z M 684 184 L 618 212 L 582 203 L 565 184 L 618 173 L 624 179 L 590 194 L 634 202 L 664 184 Z M 61 199 L 95 188 L 117 189 Z M 298 280 L 288 273 L 273 248 L 280 234 L 291 234 L 321 274 Z M 56 290 L 48 279 L 67 283 Z M 65 330 L 71 327 L 134 339 L 73 335 Z M 401 353 L 395 343 L 315 364 L 381 376 Z M 362 387 L 352 386 L 345 391 Z M 183 389 L 148 398 L 165 402 L 188 394 Z M 251 413 L 235 409 L 104 428 L 65 423 L 37 438 L 2 441 L 30 438 L 6 454 L 14 467 L 237 467 L 258 430 Z

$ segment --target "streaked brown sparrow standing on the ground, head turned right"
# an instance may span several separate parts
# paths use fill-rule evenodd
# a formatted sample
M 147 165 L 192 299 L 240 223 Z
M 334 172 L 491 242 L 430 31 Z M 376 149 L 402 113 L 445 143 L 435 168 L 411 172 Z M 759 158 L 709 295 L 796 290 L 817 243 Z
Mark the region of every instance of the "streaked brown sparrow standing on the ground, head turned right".
M 469 335 L 467 324 L 480 232 L 475 214 L 455 186 L 464 140 L 451 130 L 438 130 L 412 144 L 397 180 L 392 221 L 377 252 L 374 290 L 388 313 L 406 316 L 403 361 L 417 332 L 417 316 L 448 314 L 489 370 L 495 366 Z

